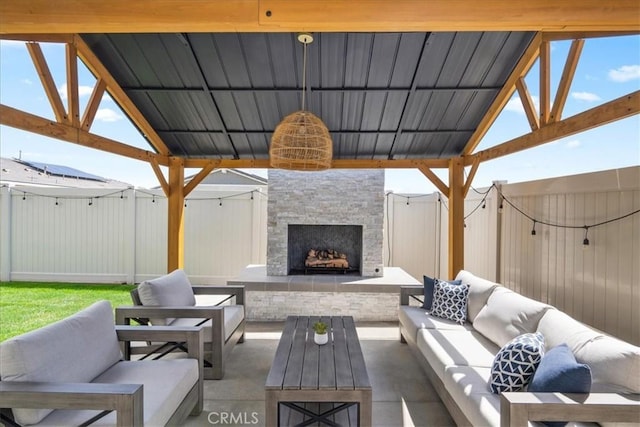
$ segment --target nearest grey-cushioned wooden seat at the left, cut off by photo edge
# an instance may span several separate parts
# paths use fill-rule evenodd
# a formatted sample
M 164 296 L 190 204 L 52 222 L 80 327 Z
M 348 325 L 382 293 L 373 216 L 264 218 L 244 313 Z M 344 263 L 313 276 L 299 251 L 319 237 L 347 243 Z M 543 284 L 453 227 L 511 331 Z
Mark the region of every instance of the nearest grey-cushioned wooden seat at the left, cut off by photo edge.
M 99 301 L 0 344 L 5 425 L 179 425 L 203 408 L 202 328 L 115 326 Z M 188 343 L 188 357 L 123 360 L 132 340 Z M 10 408 L 7 410 L 7 408 Z M 53 409 L 41 409 L 53 408 Z

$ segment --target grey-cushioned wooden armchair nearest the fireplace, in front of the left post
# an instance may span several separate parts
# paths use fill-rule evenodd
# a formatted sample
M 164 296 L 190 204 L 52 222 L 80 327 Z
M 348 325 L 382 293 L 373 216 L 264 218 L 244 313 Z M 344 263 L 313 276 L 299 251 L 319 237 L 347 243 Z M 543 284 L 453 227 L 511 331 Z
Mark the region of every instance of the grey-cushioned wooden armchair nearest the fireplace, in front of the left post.
M 244 296 L 244 286 L 193 286 L 184 270 L 177 269 L 132 290 L 135 305 L 116 307 L 116 323 L 203 326 L 204 378 L 221 379 L 225 360 L 236 343 L 244 341 Z M 150 344 L 131 350 L 148 352 Z

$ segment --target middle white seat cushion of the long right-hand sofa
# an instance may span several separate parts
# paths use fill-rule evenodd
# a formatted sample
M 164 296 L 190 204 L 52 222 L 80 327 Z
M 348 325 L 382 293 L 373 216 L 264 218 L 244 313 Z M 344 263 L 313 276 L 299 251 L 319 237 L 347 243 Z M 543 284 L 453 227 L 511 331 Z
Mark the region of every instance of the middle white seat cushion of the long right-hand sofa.
M 417 345 L 440 379 L 444 377 L 445 368 L 451 365 L 490 369 L 500 350 L 476 331 L 421 329 Z

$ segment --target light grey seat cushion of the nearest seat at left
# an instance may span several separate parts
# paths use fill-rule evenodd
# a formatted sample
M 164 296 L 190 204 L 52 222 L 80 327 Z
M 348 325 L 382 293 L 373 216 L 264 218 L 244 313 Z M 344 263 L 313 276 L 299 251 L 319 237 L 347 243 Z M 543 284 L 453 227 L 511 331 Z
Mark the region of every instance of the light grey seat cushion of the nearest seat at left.
M 195 359 L 123 361 L 102 375 L 95 383 L 142 384 L 144 396 L 144 425 L 164 426 L 189 390 L 198 381 L 198 361 Z M 95 416 L 100 411 L 57 410 L 38 426 L 71 426 Z M 94 426 L 113 426 L 115 412 L 96 421 Z

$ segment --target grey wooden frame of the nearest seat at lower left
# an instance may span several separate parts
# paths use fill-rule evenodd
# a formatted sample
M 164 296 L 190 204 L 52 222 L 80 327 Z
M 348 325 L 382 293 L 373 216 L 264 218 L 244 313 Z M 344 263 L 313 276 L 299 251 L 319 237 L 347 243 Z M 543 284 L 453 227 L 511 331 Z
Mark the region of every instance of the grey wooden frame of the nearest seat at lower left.
M 189 390 L 171 416 L 179 425 L 187 415 L 203 409 L 203 331 L 201 327 L 116 326 L 118 340 L 128 347 L 132 341 L 184 341 L 188 357 L 198 359 L 198 382 Z M 126 358 L 126 357 L 125 357 Z M 95 409 L 116 411 L 116 426 L 142 427 L 144 420 L 141 384 L 58 383 L 0 381 L 0 408 Z

